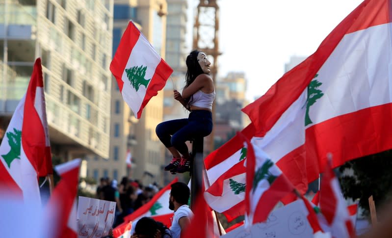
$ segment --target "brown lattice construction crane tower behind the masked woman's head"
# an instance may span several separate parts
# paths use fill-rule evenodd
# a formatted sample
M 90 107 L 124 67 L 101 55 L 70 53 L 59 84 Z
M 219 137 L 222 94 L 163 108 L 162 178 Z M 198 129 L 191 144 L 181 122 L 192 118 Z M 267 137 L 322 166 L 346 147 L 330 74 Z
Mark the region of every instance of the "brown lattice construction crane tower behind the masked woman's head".
M 193 49 L 207 54 L 211 62 L 211 77 L 216 84 L 219 52 L 219 6 L 217 0 L 200 0 L 197 5 L 193 26 Z M 212 106 L 212 123 L 215 121 L 215 106 Z M 209 154 L 214 150 L 214 129 L 205 139 L 204 151 Z

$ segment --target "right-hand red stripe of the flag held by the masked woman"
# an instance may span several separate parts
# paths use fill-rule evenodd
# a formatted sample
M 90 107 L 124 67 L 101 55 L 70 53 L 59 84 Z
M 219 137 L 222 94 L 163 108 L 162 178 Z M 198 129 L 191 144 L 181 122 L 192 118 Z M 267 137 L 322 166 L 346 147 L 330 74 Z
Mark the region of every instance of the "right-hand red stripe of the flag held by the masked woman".
M 148 84 L 146 95 L 144 96 L 140 109 L 137 112 L 137 118 L 140 118 L 144 106 L 147 105 L 150 99 L 157 95 L 158 91 L 160 91 L 165 86 L 166 80 L 172 73 L 173 69 L 170 68 L 170 66 L 163 59 L 160 59 L 160 62 L 155 69 L 153 78 L 151 78 L 151 81 Z

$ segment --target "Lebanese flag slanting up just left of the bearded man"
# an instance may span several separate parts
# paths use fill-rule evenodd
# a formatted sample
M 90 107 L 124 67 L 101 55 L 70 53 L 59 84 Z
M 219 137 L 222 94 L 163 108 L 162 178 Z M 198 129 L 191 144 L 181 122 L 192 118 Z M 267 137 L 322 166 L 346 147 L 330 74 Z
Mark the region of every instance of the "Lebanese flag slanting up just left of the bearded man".
M 170 220 L 170 217 L 173 216 L 173 211 L 169 209 L 169 197 L 171 191 L 171 185 L 176 183 L 178 178 L 175 178 L 170 184 L 166 185 L 164 188 L 159 190 L 157 194 L 145 205 L 141 206 L 136 211 L 124 217 L 125 222 L 132 222 L 134 224 L 143 216 L 160 216 L 158 218 L 163 218 L 163 224 L 167 225 L 167 217 Z M 157 219 L 156 219 L 157 220 Z

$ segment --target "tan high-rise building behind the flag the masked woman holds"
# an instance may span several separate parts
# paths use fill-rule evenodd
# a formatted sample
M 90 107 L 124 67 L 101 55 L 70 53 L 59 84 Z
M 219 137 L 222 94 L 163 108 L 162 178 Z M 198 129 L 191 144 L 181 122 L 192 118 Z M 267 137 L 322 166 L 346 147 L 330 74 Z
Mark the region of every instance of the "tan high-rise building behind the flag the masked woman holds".
M 157 53 L 164 58 L 166 39 L 166 0 L 114 0 L 113 55 L 120 39 L 132 22 L 141 30 Z M 108 160 L 90 159 L 89 173 L 96 179 L 123 176 L 139 179 L 143 184 L 162 184 L 163 146 L 155 127 L 163 119 L 163 93 L 159 92 L 143 109 L 141 118 L 134 117 L 124 102 L 117 82 L 111 80 L 110 152 Z M 127 171 L 126 153 L 131 151 L 134 167 Z

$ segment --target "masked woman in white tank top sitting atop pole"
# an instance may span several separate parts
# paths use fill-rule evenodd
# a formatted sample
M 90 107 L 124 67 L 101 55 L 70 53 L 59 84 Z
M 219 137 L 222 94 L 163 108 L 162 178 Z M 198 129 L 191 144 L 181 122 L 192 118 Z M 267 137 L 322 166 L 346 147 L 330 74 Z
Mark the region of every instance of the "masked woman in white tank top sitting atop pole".
M 190 111 L 189 117 L 157 125 L 158 138 L 173 155 L 172 161 L 165 167 L 166 171 L 190 171 L 190 157 L 185 141 L 205 137 L 212 132 L 215 90 L 214 82 L 209 77 L 210 65 L 203 52 L 192 51 L 186 57 L 186 85 L 182 94 L 174 90 L 174 99 Z

